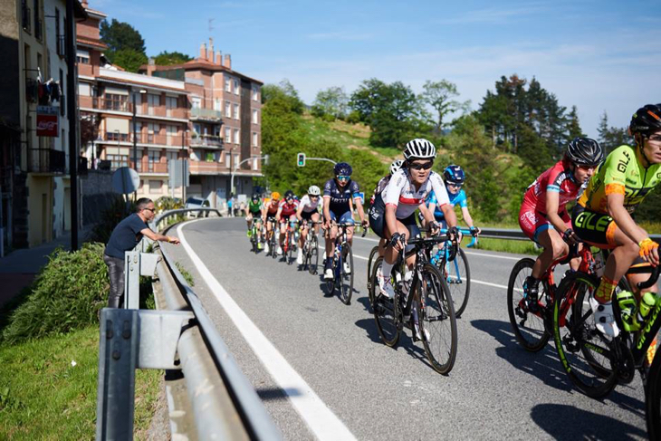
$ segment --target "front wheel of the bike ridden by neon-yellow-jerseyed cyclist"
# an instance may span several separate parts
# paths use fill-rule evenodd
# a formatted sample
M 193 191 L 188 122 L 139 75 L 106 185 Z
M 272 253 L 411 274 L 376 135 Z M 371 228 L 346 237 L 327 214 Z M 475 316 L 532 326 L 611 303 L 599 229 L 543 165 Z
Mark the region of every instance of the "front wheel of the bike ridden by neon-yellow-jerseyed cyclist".
M 553 304 L 553 337 L 560 362 L 571 382 L 590 398 L 607 396 L 618 383 L 611 341 L 597 331 L 588 302 L 598 286 L 596 276 L 567 274 Z

